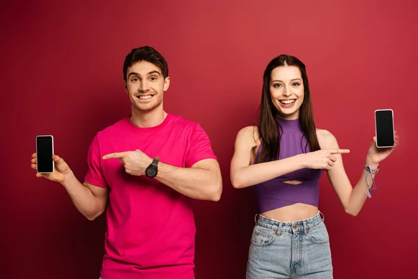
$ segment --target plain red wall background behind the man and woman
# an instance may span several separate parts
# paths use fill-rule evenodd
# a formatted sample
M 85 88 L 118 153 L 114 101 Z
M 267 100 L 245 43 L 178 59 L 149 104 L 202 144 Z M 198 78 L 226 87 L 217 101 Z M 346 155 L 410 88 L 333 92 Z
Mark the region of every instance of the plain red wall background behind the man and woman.
M 99 277 L 104 216 L 86 220 L 29 160 L 36 135 L 54 135 L 56 153 L 84 179 L 95 133 L 130 113 L 123 59 L 141 45 L 169 63 L 165 110 L 201 123 L 222 167 L 222 199 L 194 201 L 196 278 L 245 278 L 256 204 L 251 188 L 232 188 L 229 163 L 236 133 L 254 123 L 263 70 L 282 53 L 307 65 L 316 126 L 351 150 L 353 185 L 374 110 L 392 108 L 401 137 L 359 216 L 344 213 L 323 176 L 334 278 L 413 277 L 416 1 L 116 2 L 1 3 L 0 278 Z

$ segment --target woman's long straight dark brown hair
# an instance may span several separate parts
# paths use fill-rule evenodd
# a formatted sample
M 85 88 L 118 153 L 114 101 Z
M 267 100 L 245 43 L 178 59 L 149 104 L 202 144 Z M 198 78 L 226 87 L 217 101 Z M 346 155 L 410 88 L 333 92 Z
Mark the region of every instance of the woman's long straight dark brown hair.
M 314 113 L 312 112 L 311 92 L 309 91 L 309 82 L 307 70 L 304 63 L 295 56 L 281 54 L 272 59 L 265 68 L 263 75 L 263 92 L 261 96 L 261 105 L 258 108 L 258 135 L 260 137 L 261 151 L 258 154 L 257 163 L 269 162 L 279 158 L 280 138 L 279 130 L 281 126 L 275 119 L 276 109 L 273 106 L 270 97 L 271 73 L 274 68 L 279 66 L 296 66 L 302 75 L 304 86 L 304 100 L 299 110 L 299 121 L 302 126 L 304 136 L 307 138 L 307 144 L 311 151 L 320 150 L 318 137 L 316 137 L 316 128 L 314 123 Z M 278 130 L 279 128 L 279 130 Z M 301 143 L 302 144 L 302 143 Z M 304 152 L 307 152 L 307 145 L 304 146 Z

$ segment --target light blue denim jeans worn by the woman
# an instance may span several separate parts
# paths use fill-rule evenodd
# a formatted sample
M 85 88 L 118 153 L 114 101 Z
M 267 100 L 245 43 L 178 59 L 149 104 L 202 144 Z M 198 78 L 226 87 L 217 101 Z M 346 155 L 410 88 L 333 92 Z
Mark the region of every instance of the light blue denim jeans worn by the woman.
M 247 279 L 332 278 L 330 240 L 321 215 L 318 211 L 293 223 L 256 216 Z

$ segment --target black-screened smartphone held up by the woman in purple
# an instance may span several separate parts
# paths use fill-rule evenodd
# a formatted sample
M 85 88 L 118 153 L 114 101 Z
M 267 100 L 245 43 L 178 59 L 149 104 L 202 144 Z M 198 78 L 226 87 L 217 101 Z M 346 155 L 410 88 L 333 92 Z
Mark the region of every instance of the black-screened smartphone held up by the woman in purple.
M 376 110 L 376 146 L 378 148 L 393 147 L 395 145 L 394 111 Z

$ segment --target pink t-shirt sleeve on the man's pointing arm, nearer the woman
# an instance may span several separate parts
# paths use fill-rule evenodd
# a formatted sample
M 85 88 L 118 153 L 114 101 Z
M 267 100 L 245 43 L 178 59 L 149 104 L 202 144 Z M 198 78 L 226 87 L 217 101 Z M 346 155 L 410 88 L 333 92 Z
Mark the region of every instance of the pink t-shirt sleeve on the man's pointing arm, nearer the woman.
M 192 167 L 192 165 L 204 159 L 217 160 L 217 157 L 212 151 L 212 146 L 205 130 L 203 130 L 203 128 L 197 124 L 191 137 L 185 165 L 186 167 Z

